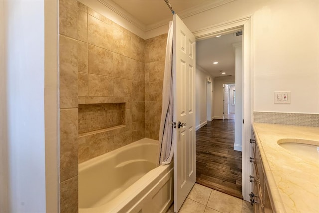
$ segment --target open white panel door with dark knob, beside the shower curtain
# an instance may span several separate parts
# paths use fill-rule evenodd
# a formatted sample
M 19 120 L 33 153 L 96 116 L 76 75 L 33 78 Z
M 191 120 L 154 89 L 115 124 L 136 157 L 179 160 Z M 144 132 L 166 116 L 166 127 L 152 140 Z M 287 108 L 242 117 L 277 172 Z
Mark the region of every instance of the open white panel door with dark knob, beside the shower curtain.
M 174 212 L 178 212 L 196 181 L 196 40 L 176 14 L 173 22 L 173 113 L 177 123 L 174 129 Z

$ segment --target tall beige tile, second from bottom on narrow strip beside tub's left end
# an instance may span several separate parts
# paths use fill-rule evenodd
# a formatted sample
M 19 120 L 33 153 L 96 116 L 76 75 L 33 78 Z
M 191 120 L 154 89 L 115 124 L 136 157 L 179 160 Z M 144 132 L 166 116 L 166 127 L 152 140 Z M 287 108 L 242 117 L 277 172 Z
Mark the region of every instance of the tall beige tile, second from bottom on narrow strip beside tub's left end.
M 60 181 L 78 174 L 78 109 L 60 110 Z

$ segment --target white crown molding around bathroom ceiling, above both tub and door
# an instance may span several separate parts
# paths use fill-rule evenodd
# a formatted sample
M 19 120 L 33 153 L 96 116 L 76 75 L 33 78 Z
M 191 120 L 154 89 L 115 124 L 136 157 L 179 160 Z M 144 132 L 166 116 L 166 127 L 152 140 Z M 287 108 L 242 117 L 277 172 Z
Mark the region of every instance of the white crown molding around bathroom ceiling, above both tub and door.
M 141 21 L 134 18 L 132 15 L 130 15 L 128 12 L 126 12 L 122 7 L 118 6 L 116 3 L 114 3 L 112 0 L 98 0 L 100 3 L 102 3 L 104 6 L 108 7 L 118 15 L 120 15 L 122 18 L 126 19 L 130 23 L 132 23 L 134 26 L 138 27 L 139 29 L 143 30 L 144 32 L 165 26 L 169 23 L 172 18 L 161 20 L 154 24 L 143 24 Z M 220 1 L 207 1 L 207 3 L 186 9 L 184 11 L 177 12 L 178 16 L 181 19 L 196 15 L 198 13 L 216 8 L 218 6 L 222 6 L 224 4 L 230 3 L 235 0 L 220 0 Z

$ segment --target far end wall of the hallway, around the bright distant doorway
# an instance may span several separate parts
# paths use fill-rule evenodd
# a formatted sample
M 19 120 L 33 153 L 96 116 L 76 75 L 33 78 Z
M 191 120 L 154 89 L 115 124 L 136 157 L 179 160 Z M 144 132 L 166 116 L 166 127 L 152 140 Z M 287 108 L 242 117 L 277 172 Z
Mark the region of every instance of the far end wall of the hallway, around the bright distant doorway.
M 224 112 L 224 84 L 235 83 L 235 76 L 217 77 L 214 80 L 214 118 L 223 119 Z

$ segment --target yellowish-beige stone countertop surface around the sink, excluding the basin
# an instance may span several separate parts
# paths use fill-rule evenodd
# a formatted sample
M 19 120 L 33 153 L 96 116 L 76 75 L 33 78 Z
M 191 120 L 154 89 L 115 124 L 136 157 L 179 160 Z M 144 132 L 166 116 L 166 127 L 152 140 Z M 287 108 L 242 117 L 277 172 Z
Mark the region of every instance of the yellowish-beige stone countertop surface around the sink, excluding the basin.
M 288 151 L 277 141 L 304 139 L 319 146 L 319 127 L 253 123 L 253 130 L 274 212 L 318 213 L 319 160 Z

